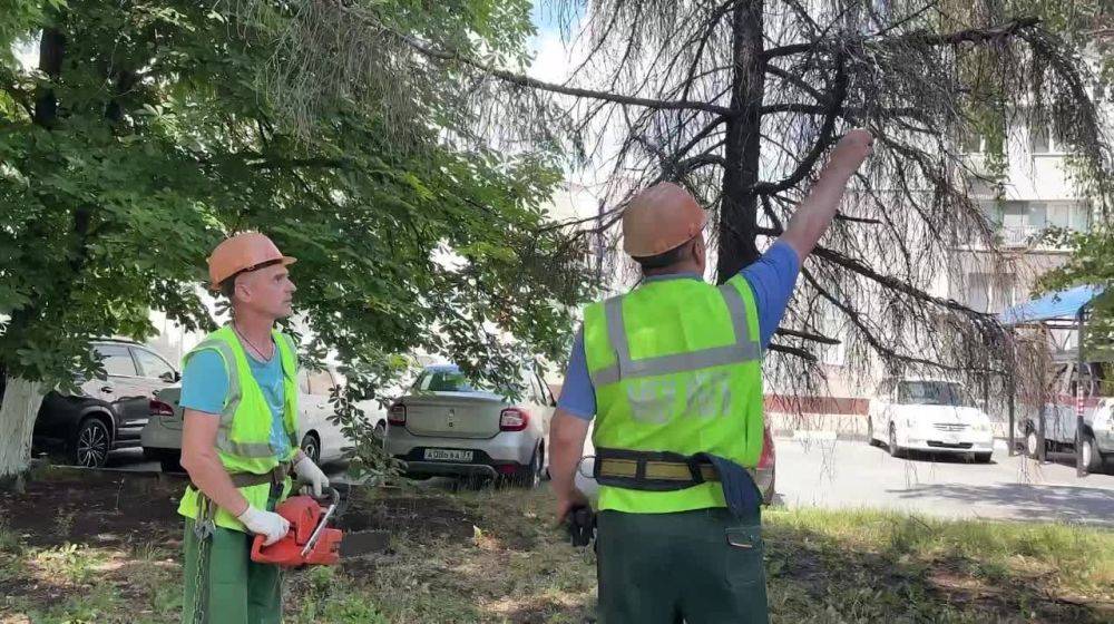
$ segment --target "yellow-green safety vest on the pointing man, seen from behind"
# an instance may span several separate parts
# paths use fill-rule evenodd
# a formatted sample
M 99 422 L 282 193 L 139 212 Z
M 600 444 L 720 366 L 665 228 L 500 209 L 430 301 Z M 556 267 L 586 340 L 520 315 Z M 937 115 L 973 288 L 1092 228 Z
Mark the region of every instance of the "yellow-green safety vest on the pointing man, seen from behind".
M 762 454 L 762 349 L 751 286 L 685 275 L 644 283 L 584 311 L 597 448 L 710 452 L 753 468 Z M 675 491 L 599 487 L 600 510 L 725 507 L 719 482 Z

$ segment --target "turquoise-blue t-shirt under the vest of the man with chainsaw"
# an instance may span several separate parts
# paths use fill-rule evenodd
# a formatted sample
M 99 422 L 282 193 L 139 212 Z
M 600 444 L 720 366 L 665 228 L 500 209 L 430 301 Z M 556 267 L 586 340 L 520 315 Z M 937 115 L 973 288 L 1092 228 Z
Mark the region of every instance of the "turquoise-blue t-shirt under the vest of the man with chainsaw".
M 271 449 L 276 457 L 284 457 L 290 452 L 290 439 L 282 420 L 284 393 L 278 347 L 275 347 L 274 355 L 266 362 L 256 361 L 247 354 L 247 365 L 252 369 L 252 377 L 260 384 L 260 390 L 263 390 L 263 399 L 271 408 Z M 224 370 L 224 359 L 219 353 L 206 349 L 189 358 L 186 370 L 182 373 L 179 403 L 183 408 L 221 413 L 227 394 L 228 373 Z

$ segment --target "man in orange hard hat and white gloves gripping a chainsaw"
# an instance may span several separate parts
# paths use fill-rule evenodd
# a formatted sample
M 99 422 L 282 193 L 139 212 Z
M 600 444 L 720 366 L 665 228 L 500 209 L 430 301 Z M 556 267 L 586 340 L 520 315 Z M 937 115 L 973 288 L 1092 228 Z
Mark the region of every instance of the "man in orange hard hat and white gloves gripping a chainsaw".
M 281 622 L 282 571 L 253 562 L 252 542 L 270 545 L 290 529 L 274 509 L 291 475 L 316 496 L 329 486 L 299 448 L 297 347 L 274 326 L 291 314 L 294 262 L 257 232 L 225 240 L 208 259 L 209 287 L 228 299 L 232 321 L 183 359 L 183 622 Z

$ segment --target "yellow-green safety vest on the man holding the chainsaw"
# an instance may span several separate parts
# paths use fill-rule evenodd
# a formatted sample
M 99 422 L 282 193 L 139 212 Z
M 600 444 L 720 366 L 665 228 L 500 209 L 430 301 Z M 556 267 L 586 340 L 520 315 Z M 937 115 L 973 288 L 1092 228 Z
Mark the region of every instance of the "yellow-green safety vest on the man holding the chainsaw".
M 228 393 L 224 408 L 221 410 L 221 425 L 216 435 L 216 450 L 221 464 L 229 475 L 252 472 L 264 475 L 278 466 L 281 461 L 290 461 L 297 455 L 297 349 L 294 341 L 286 334 L 274 330 L 272 332 L 278 347 L 278 358 L 283 371 L 283 423 L 290 438 L 290 451 L 282 457 L 271 448 L 271 408 L 263 397 L 263 390 L 252 376 L 247 363 L 247 353 L 236 338 L 231 326 L 211 333 L 182 360 L 185 370 L 189 359 L 202 351 L 216 351 L 224 360 L 224 370 L 228 374 Z M 244 498 L 257 509 L 266 509 L 271 495 L 271 485 L 262 484 L 238 488 Z M 291 490 L 287 478 L 281 498 Z M 199 513 L 198 493 L 193 487 L 186 487 L 186 493 L 178 505 L 178 514 L 196 519 Z M 217 526 L 234 530 L 245 530 L 244 525 L 232 513 L 221 508 L 216 511 L 214 521 Z

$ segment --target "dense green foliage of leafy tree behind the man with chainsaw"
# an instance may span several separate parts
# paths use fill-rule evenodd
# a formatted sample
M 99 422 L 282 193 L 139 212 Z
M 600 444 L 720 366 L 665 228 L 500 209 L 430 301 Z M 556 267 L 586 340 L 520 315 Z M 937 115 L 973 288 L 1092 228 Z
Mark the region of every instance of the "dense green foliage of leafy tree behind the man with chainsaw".
M 0 478 L 26 466 L 41 393 L 104 374 L 90 338 L 148 338 L 152 309 L 214 328 L 198 285 L 207 253 L 235 231 L 299 257 L 306 359 L 333 350 L 361 397 L 416 350 L 495 380 L 524 354 L 560 355 L 587 283 L 580 248 L 539 207 L 560 179 L 548 147 L 490 145 L 437 85 L 399 90 L 389 72 L 374 88 L 392 106 L 349 94 L 294 119 L 260 81 L 268 64 L 296 60 L 270 35 L 281 13 L 4 4 L 0 427 L 16 435 L 0 442 Z M 400 29 L 508 56 L 530 31 L 521 3 L 380 7 Z M 36 67 L 10 52 L 28 42 Z

